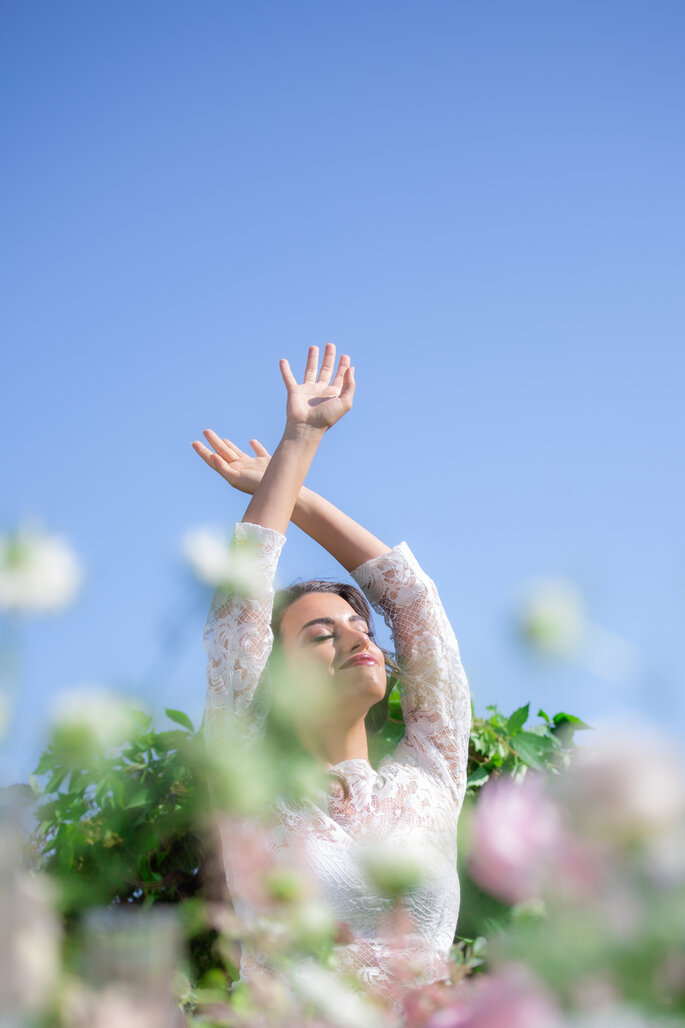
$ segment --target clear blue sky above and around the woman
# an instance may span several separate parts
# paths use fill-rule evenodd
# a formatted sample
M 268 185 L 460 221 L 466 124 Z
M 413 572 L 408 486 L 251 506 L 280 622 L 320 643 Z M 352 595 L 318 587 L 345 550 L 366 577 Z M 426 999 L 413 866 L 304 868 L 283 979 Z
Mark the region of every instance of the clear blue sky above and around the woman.
M 1 22 L 0 529 L 41 519 L 87 576 L 20 628 L 5 777 L 65 689 L 201 717 L 210 597 L 179 539 L 245 498 L 190 441 L 275 446 L 278 359 L 327 340 L 357 397 L 309 484 L 409 543 L 476 710 L 685 735 L 681 0 L 5 0 Z M 281 582 L 335 574 L 292 529 Z M 520 644 L 541 575 L 636 648 L 632 675 Z

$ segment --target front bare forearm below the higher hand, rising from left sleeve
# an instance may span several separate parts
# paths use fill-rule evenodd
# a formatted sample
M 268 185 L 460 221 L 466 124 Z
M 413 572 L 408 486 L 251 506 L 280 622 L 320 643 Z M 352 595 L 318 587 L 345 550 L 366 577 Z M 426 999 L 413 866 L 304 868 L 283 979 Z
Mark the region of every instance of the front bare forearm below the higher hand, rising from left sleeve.
M 281 442 L 243 516 L 244 521 L 285 535 L 323 430 L 286 426 Z M 307 530 L 307 529 L 305 529 Z

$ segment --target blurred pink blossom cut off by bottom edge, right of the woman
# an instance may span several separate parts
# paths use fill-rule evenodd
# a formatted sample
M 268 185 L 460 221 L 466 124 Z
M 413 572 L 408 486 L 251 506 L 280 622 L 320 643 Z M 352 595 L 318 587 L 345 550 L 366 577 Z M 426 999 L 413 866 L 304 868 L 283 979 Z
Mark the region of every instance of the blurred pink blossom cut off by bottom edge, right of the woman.
M 459 998 L 426 1028 L 563 1028 L 552 995 L 522 964 L 506 964 L 457 989 Z

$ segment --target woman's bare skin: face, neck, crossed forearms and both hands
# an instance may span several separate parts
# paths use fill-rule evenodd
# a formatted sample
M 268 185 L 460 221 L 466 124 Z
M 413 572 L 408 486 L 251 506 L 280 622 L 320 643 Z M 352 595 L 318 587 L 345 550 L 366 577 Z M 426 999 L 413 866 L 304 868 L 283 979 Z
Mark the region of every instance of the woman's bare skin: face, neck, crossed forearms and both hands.
M 285 534 L 292 520 L 346 571 L 354 571 L 366 560 L 387 553 L 389 547 L 303 484 L 324 434 L 352 407 L 354 368 L 344 354 L 334 373 L 332 343 L 326 344 L 318 373 L 319 348 L 310 346 L 301 383 L 296 381 L 286 360 L 280 366 L 286 388 L 286 425 L 273 456 L 256 439 L 250 441 L 254 450 L 251 455 L 211 429 L 204 435 L 212 450 L 197 440 L 192 447 L 229 485 L 251 494 L 244 521 Z M 333 600 L 339 601 L 335 609 L 331 605 Z M 333 705 L 331 717 L 310 726 L 309 730 L 312 752 L 328 766 L 356 758 L 368 760 L 364 717 L 383 698 L 386 687 L 382 655 L 377 671 L 371 665 L 341 669 L 345 659 L 355 653 L 381 654 L 350 612 L 355 614 L 342 597 L 308 593 L 287 609 L 282 621 L 282 637 L 289 659 L 295 663 L 305 660 L 310 666 L 314 662 L 334 689 L 338 683 L 341 686 L 341 698 Z M 307 621 L 319 617 L 330 617 L 332 625 L 307 629 L 300 635 Z M 332 637 L 304 641 L 303 636 L 312 631 Z

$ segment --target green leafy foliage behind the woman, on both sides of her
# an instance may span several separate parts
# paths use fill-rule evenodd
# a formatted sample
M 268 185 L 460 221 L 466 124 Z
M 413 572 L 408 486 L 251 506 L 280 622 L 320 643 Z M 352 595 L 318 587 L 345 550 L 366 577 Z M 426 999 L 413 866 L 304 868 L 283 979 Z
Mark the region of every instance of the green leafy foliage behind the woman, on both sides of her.
M 587 727 L 570 714 L 549 718 L 540 711 L 542 723 L 526 729 L 528 705 L 509 718 L 495 706 L 488 710 L 488 718 L 473 719 L 471 795 L 491 775 L 517 773 L 526 767 L 562 768 L 573 732 Z M 142 711 L 130 713 L 128 738 L 120 745 L 96 745 L 78 731 L 55 733 L 31 779 L 37 798 L 33 866 L 57 880 L 68 927 L 95 906 L 181 904 L 192 986 L 208 972 L 230 980 L 237 977 L 236 960 L 215 945 L 217 932 L 205 914 L 208 895 L 201 886 L 211 866 L 207 858 L 213 840 L 205 825 L 212 810 L 210 792 L 215 798 L 224 794 L 230 804 L 240 780 L 246 772 L 252 780 L 255 769 L 247 767 L 247 757 L 239 754 L 231 759 L 235 769 L 231 761 L 225 762 L 225 754 L 221 767 L 213 765 L 203 733 L 195 733 L 180 710 L 167 710 L 175 727 L 166 731 L 155 731 Z M 385 724 L 369 736 L 372 763 L 392 752 L 403 734 L 398 684 L 389 696 Z M 276 734 L 274 752 L 282 776 L 281 750 L 287 742 Z M 264 786 L 271 792 L 276 785 L 263 767 L 263 755 L 254 759 L 261 762 Z M 235 781 L 226 784 L 231 777 Z M 286 784 L 285 777 L 282 783 Z M 236 809 L 242 809 L 240 804 Z M 481 934 L 482 923 L 469 923 L 466 930 L 475 938 Z M 468 959 L 476 961 L 476 955 L 469 951 Z

